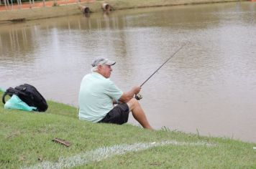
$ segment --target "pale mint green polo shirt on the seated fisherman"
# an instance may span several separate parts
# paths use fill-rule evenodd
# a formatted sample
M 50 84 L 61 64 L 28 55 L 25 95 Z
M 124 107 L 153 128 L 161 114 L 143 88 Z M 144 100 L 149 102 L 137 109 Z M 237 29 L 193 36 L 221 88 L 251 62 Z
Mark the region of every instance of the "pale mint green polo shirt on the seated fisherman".
M 83 77 L 79 97 L 79 119 L 99 122 L 113 109 L 113 100 L 119 100 L 122 90 L 110 79 L 97 72 Z

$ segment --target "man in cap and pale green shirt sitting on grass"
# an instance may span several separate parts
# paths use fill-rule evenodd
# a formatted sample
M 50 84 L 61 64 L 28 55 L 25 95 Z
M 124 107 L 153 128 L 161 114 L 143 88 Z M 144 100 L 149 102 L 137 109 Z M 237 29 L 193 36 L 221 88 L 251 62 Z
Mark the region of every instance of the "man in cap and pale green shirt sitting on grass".
M 122 125 L 127 122 L 129 112 L 132 112 L 142 127 L 152 130 L 140 103 L 134 98 L 141 87 L 132 87 L 129 92 L 122 92 L 109 79 L 111 66 L 115 63 L 104 58 L 93 60 L 92 73 L 86 74 L 81 82 L 78 98 L 79 119 Z

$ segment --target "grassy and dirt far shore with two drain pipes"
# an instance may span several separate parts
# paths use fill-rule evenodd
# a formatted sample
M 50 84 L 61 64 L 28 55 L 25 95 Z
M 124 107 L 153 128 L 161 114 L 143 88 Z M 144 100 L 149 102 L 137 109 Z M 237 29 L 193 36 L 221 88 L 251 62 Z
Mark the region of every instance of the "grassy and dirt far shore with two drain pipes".
M 234 1 L 247 0 L 108 0 L 108 1 L 90 1 L 86 3 L 63 4 L 58 6 L 45 6 L 31 9 L 14 9 L 0 11 L 0 24 L 14 21 L 25 21 L 35 19 L 47 19 L 58 16 L 68 16 L 74 14 L 82 14 L 81 6 L 86 6 L 91 13 L 102 12 L 102 4 L 106 3 L 114 10 L 133 9 L 154 6 L 175 6 L 188 4 L 209 4 L 209 3 L 224 3 Z

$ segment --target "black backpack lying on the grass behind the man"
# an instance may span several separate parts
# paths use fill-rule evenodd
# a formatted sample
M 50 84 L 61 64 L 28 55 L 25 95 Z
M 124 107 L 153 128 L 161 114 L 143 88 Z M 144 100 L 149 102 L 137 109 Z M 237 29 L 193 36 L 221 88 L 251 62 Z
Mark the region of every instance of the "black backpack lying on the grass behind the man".
M 9 87 L 2 97 L 5 104 L 4 97 L 9 95 L 17 95 L 23 102 L 32 107 L 37 107 L 38 112 L 45 112 L 48 108 L 47 102 L 44 97 L 37 91 L 35 87 L 30 84 L 22 84 L 15 88 Z

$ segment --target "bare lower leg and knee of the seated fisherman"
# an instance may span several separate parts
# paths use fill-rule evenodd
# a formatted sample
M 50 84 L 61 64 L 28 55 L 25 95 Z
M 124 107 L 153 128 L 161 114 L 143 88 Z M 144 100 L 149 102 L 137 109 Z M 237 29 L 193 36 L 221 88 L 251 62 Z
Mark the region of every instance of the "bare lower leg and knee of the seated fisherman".
M 134 119 L 140 122 L 140 125 L 142 125 L 142 127 L 153 130 L 150 126 L 150 123 L 147 121 L 147 117 L 142 110 L 142 107 L 140 106 L 138 100 L 132 98 L 132 100 L 129 100 L 129 102 L 127 102 L 127 105 L 129 107 L 129 110 L 132 111 Z

